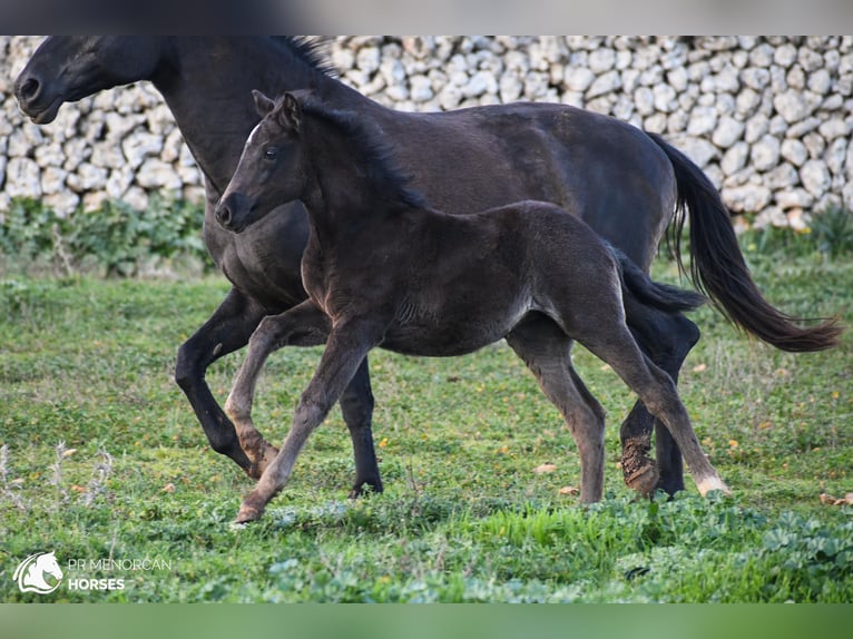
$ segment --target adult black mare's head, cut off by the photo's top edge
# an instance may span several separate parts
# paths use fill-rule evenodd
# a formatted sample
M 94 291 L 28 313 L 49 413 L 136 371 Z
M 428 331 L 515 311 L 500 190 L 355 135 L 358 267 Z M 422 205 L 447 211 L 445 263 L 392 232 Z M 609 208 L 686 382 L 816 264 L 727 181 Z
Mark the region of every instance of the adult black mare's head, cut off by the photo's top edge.
M 161 50 L 155 36 L 51 36 L 18 76 L 14 96 L 33 122 L 46 125 L 62 102 L 149 79 Z

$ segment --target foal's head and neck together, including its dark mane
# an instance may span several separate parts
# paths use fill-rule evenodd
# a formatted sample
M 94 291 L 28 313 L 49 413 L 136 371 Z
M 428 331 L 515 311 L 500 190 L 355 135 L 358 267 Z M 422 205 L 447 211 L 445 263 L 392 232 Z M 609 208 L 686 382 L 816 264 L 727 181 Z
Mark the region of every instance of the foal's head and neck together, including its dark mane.
M 225 228 L 239 233 L 273 208 L 320 190 L 326 209 L 423 208 L 409 188 L 391 146 L 375 122 L 339 110 L 313 92 L 273 101 L 253 91 L 262 116 L 246 141 L 231 184 L 216 208 Z

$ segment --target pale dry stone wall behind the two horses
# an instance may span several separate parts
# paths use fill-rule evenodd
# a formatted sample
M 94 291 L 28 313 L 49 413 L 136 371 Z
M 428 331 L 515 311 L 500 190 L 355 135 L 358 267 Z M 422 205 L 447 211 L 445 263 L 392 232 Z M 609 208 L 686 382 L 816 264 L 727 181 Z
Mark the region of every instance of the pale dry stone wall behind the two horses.
M 40 38 L 0 37 L 0 215 L 13 197 L 61 214 L 155 191 L 202 197 L 202 176 L 146 82 L 26 120 L 12 82 Z M 666 136 L 739 224 L 801 227 L 853 207 L 853 37 L 342 37 L 341 79 L 385 105 L 442 110 L 561 101 Z M 748 220 L 748 222 L 747 222 Z

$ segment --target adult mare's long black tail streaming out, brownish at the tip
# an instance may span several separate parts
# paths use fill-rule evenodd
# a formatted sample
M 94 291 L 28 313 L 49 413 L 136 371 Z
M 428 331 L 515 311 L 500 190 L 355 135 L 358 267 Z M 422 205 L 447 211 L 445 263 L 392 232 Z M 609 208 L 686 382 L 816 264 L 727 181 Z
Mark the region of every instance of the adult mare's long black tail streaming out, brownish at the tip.
M 764 299 L 737 245 L 731 214 L 707 176 L 687 156 L 657 135 L 648 136 L 669 158 L 678 186 L 673 248 L 682 267 L 679 239 L 685 209 L 690 212 L 690 278 L 734 324 L 763 342 L 791 352 L 822 351 L 839 344 L 837 317 L 813 326 Z

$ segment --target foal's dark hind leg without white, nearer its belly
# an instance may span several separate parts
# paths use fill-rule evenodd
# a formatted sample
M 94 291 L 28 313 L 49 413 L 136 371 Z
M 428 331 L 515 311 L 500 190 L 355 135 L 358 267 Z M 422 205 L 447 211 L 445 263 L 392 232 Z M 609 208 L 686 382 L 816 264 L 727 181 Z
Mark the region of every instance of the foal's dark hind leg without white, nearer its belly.
M 571 340 L 542 316 L 517 326 L 507 343 L 569 425 L 580 454 L 581 502 L 599 501 L 605 478 L 605 411 L 571 365 Z

